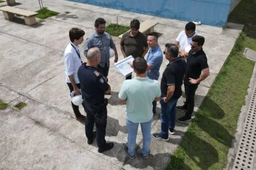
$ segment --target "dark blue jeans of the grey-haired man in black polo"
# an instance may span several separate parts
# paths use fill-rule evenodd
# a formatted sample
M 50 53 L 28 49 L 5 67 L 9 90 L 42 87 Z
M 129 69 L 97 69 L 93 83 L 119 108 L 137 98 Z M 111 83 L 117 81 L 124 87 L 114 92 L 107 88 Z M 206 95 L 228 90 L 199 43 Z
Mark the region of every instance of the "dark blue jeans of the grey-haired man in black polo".
M 168 136 L 168 129 L 174 130 L 176 119 L 176 105 L 177 99 L 170 99 L 168 102 L 163 102 L 160 99 L 161 104 L 161 135 Z

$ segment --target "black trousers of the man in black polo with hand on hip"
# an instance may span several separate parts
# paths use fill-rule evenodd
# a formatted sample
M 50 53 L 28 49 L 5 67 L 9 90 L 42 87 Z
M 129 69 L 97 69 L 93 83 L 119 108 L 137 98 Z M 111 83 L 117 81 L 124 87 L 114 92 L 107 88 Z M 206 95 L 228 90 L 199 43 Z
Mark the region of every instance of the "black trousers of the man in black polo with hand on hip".
M 198 85 L 184 85 L 185 94 L 186 94 L 186 102 L 184 106 L 187 108 L 186 116 L 191 118 L 191 115 L 194 111 L 195 106 L 195 94 Z

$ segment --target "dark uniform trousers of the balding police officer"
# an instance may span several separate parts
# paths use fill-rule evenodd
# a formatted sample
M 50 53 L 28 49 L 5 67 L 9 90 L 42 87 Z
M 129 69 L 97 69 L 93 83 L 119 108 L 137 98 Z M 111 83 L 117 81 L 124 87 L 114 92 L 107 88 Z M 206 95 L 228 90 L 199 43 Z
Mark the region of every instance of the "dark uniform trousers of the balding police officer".
M 97 145 L 102 148 L 106 145 L 107 107 L 104 107 L 100 112 L 96 112 L 89 107 L 86 103 L 83 103 L 83 108 L 86 112 L 85 135 L 88 139 L 93 138 L 93 127 L 95 123 Z

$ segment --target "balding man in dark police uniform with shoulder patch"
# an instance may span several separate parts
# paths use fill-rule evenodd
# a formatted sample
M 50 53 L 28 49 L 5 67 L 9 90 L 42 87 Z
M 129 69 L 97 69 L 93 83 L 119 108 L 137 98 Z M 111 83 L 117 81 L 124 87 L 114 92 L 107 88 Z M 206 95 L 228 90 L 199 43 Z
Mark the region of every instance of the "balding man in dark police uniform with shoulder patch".
M 81 85 L 83 107 L 87 114 L 85 120 L 85 134 L 88 144 L 94 140 L 93 127 L 96 124 L 96 136 L 98 152 L 113 148 L 114 143 L 106 143 L 107 125 L 107 99 L 104 93 L 110 93 L 110 85 L 106 82 L 102 74 L 97 71 L 101 54 L 97 47 L 88 50 L 86 55 L 87 63 L 83 63 L 78 70 L 78 78 Z

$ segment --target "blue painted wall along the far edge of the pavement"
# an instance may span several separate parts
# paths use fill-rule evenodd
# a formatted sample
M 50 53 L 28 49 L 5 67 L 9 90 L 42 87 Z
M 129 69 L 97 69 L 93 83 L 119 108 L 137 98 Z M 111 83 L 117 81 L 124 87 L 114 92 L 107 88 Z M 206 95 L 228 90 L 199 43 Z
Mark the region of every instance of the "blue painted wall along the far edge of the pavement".
M 202 24 L 226 24 L 231 0 L 69 0 L 101 7 Z

